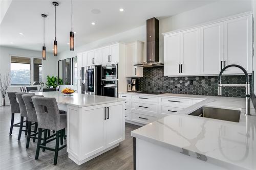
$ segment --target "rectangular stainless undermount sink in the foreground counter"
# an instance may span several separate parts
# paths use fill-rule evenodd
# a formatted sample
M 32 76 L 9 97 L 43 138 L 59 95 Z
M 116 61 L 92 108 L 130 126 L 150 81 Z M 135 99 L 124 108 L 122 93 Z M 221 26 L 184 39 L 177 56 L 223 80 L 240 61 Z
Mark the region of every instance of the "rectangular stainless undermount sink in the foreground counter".
M 241 114 L 240 110 L 201 107 L 188 115 L 214 118 L 214 119 L 226 120 L 230 122 L 239 122 L 240 114 Z

